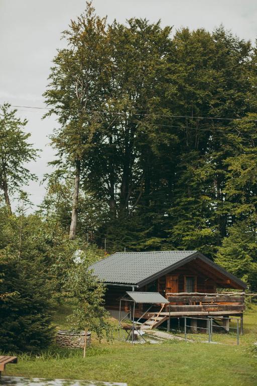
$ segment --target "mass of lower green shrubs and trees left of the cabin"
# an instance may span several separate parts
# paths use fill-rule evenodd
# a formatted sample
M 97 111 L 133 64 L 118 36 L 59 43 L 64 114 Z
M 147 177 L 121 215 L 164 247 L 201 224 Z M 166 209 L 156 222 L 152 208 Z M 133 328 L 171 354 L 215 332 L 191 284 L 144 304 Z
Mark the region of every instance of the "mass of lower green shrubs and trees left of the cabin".
M 70 241 L 58 220 L 49 218 L 43 210 L 26 214 L 30 206 L 25 194 L 21 195 L 18 209 L 10 215 L 7 204 L 0 201 L 0 351 L 37 353 L 47 348 L 55 337 L 52 316 L 58 303 L 71 299 L 72 285 L 68 278 L 77 270 L 76 252 L 83 250 L 89 265 L 102 257 L 102 252 L 82 240 Z M 90 272 L 84 278 L 84 286 L 91 291 Z M 96 280 L 95 280 L 96 281 Z M 66 286 L 66 287 L 65 287 Z M 81 285 L 81 297 L 83 296 Z M 104 293 L 104 288 L 100 288 Z M 100 304 L 97 283 L 95 297 Z M 75 296 L 73 295 L 75 304 Z M 97 304 L 96 300 L 95 303 Z M 100 307 L 100 306 L 99 306 Z M 101 309 L 97 309 L 101 316 Z M 82 305 L 80 305 L 82 309 Z M 95 306 L 96 308 L 96 306 Z M 94 311 L 94 309 L 93 309 Z M 91 314 L 93 313 L 91 311 Z M 75 323 L 74 317 L 74 323 Z M 93 330 L 102 328 L 94 321 Z

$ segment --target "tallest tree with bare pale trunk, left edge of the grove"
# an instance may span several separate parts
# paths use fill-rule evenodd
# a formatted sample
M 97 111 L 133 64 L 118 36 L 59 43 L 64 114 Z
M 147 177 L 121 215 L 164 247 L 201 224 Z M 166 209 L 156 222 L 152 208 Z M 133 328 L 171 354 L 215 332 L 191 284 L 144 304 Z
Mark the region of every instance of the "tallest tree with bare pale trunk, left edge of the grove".
M 63 32 L 68 47 L 58 51 L 51 68 L 50 84 L 45 92 L 49 114 L 58 116 L 60 128 L 52 136 L 59 160 L 56 165 L 74 174 L 70 239 L 77 227 L 81 163 L 88 153 L 99 124 L 99 107 L 103 103 L 108 73 L 106 19 L 95 15 L 91 3 L 69 30 Z M 96 113 L 95 113 L 96 111 Z

